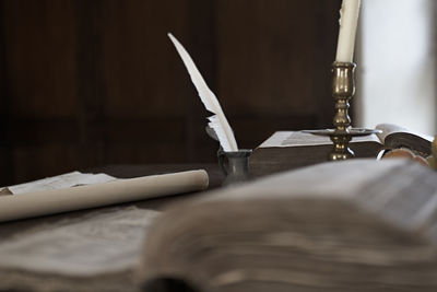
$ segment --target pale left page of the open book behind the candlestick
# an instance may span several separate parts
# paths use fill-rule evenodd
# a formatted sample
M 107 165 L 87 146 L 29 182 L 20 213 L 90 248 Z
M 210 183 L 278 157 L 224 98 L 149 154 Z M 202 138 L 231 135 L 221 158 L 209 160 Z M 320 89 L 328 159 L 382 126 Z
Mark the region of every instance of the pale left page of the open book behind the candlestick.
M 376 135 L 354 137 L 352 142 L 369 142 L 379 143 Z M 326 145 L 331 144 L 329 137 L 318 136 L 302 131 L 276 131 L 260 148 L 285 148 L 285 147 L 304 147 L 304 145 Z

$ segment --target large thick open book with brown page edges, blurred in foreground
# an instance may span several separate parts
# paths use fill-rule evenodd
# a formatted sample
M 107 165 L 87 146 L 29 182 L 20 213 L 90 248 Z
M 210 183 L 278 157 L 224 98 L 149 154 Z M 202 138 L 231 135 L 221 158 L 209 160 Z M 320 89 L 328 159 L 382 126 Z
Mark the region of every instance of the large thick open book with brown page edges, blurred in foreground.
M 144 291 L 437 291 L 437 174 L 351 160 L 270 176 L 167 211 L 143 253 Z

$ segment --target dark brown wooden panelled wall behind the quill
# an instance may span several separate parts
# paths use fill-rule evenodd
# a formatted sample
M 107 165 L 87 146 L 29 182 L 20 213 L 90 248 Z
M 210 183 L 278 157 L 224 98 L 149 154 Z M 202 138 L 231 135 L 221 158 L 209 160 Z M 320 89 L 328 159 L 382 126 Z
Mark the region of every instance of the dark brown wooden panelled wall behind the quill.
M 243 148 L 331 122 L 340 0 L 1 0 L 0 183 L 105 164 L 214 161 L 166 37 L 218 95 Z

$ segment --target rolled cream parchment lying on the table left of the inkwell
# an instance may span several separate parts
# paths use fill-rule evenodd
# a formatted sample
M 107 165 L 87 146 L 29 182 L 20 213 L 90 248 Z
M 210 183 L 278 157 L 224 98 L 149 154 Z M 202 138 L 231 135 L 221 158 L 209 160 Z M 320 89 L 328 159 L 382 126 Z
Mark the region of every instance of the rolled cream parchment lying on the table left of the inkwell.
M 203 190 L 208 184 L 200 170 L 1 196 L 0 222 Z

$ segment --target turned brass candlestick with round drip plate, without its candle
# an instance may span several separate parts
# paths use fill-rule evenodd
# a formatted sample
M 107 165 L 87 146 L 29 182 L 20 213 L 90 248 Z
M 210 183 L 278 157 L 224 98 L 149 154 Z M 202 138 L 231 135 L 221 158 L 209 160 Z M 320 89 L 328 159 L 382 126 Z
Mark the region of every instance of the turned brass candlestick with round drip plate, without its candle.
M 328 160 L 341 161 L 354 156 L 349 148 L 353 137 L 368 136 L 379 132 L 378 130 L 351 128 L 349 116 L 350 101 L 355 94 L 355 68 L 353 62 L 334 62 L 332 65 L 332 96 L 335 100 L 334 129 L 306 131 L 314 135 L 329 136 L 333 142 L 333 150 Z

